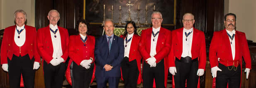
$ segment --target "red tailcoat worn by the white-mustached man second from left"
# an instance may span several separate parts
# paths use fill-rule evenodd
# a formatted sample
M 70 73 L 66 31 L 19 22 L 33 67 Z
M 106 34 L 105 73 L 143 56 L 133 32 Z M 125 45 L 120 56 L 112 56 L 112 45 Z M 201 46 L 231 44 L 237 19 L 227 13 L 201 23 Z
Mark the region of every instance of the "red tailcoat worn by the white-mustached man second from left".
M 68 43 L 69 35 L 68 30 L 58 26 L 58 31 L 60 32 L 61 38 L 61 49 L 63 55 L 61 56 L 65 61 L 68 58 Z M 53 43 L 51 40 L 50 27 L 46 26 L 44 28 L 37 30 L 37 49 L 43 60 L 48 64 L 53 59 Z

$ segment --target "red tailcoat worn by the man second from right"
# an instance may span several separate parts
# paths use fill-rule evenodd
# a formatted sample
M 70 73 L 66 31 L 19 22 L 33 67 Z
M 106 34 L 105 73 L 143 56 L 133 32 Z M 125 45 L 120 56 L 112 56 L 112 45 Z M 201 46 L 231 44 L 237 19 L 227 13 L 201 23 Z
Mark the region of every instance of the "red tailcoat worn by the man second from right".
M 183 27 L 172 31 L 171 52 L 169 54 L 169 67 L 175 67 L 175 57 L 181 59 L 183 50 Z M 202 31 L 193 28 L 191 45 L 192 59 L 198 58 L 198 69 L 205 69 L 206 47 L 205 35 Z M 174 78 L 173 78 L 174 79 Z M 174 85 L 174 81 L 173 81 Z M 199 86 L 199 85 L 198 85 Z M 173 87 L 174 88 L 174 87 Z

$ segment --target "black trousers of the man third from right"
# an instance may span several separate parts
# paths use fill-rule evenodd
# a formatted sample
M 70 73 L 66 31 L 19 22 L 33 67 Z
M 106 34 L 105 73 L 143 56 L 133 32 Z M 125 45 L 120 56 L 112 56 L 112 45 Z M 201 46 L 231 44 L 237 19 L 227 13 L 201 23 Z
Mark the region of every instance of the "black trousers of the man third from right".
M 157 63 L 156 67 L 150 67 L 145 61 L 142 70 L 143 88 L 153 88 L 155 78 L 156 88 L 165 88 L 164 86 L 164 59 Z

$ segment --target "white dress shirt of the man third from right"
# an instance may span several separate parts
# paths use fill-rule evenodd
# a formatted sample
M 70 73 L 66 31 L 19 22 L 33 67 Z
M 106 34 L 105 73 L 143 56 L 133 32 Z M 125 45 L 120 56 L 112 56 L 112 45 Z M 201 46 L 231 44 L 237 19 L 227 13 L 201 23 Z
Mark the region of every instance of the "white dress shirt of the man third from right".
M 160 31 L 160 27 L 155 29 L 152 27 L 152 31 L 156 34 L 158 31 Z M 159 33 L 155 36 L 151 33 L 151 48 L 150 48 L 150 56 L 154 57 L 157 54 L 156 47 L 157 47 L 157 38 L 158 38 Z M 153 41 L 155 39 L 155 41 Z

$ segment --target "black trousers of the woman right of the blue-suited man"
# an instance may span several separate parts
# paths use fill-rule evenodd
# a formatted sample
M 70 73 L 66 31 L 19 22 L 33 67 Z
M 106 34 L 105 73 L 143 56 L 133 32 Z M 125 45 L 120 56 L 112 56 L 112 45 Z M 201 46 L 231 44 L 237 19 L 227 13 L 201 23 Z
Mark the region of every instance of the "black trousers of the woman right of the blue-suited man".
M 136 59 L 129 62 L 129 58 L 124 57 L 121 63 L 121 69 L 125 88 L 137 88 L 137 80 L 140 72 Z

